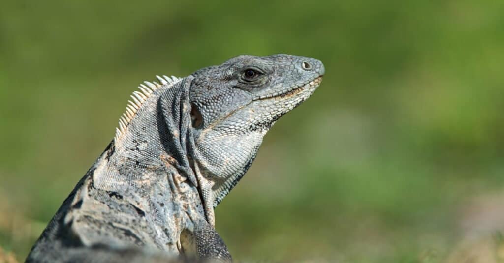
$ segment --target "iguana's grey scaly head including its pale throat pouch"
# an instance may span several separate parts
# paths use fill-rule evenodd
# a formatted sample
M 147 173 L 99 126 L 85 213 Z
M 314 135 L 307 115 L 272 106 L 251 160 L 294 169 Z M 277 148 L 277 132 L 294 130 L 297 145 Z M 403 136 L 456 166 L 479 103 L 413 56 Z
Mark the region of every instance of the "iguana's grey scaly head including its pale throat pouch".
M 321 61 L 241 55 L 193 74 L 193 160 L 212 181 L 216 206 L 254 160 L 280 116 L 306 100 L 325 73 Z

